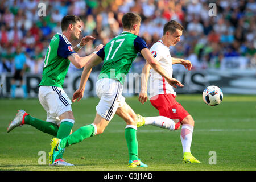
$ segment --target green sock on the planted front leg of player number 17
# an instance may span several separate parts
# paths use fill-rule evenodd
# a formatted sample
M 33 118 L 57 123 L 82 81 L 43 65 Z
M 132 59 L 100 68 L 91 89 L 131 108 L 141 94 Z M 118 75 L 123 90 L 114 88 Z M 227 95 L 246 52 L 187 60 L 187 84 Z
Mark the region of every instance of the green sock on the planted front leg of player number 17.
M 125 129 L 125 139 L 128 146 L 129 160 L 138 160 L 137 130 L 131 127 Z

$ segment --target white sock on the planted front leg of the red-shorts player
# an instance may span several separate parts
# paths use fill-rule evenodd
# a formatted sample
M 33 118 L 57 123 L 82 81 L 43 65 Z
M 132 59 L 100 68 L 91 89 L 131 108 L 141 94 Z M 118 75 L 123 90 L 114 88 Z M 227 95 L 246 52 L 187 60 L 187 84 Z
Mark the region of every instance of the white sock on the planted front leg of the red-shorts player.
M 193 129 L 194 127 L 192 125 L 182 125 L 181 127 L 180 140 L 183 147 L 183 153 L 191 152 L 190 147 L 192 143 Z

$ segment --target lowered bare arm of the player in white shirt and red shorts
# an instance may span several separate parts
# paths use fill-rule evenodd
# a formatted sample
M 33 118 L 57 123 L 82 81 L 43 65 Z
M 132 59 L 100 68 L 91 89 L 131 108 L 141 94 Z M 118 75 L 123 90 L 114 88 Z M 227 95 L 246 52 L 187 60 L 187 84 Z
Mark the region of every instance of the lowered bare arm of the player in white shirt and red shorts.
M 146 63 L 142 68 L 142 76 L 141 76 L 141 92 L 139 93 L 139 102 L 144 104 L 147 102 L 147 81 L 150 72 L 151 66 Z

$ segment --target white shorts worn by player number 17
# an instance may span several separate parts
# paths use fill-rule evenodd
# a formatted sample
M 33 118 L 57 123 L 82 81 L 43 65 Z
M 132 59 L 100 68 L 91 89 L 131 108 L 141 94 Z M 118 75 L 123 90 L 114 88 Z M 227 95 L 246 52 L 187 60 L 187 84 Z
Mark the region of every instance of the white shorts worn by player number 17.
M 102 118 L 111 121 L 117 109 L 125 104 L 122 92 L 123 85 L 117 80 L 102 78 L 96 82 L 96 94 L 100 98 L 96 111 Z

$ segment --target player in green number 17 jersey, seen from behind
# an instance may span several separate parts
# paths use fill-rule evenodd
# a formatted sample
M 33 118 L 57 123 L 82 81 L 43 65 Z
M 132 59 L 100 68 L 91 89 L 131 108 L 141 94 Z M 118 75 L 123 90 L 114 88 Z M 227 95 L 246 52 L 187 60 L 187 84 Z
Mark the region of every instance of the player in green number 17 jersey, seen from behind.
M 122 96 L 123 82 L 131 68 L 138 52 L 151 65 L 156 72 L 166 78 L 171 85 L 183 86 L 179 81 L 167 76 L 167 73 L 160 66 L 158 61 L 151 55 L 145 41 L 138 36 L 141 26 L 141 17 L 134 13 L 126 13 L 122 18 L 123 32 L 113 38 L 105 47 L 100 49 L 85 64 L 82 72 L 79 89 L 73 94 L 72 102 L 80 101 L 84 95 L 86 81 L 92 68 L 104 60 L 98 81 L 96 82 L 96 93 L 100 102 L 96 106 L 96 117 L 91 125 L 86 125 L 63 139 L 53 138 L 51 151 L 49 153 L 50 163 L 53 163 L 56 156 L 63 154 L 64 148 L 81 142 L 82 140 L 104 132 L 105 127 L 113 118 L 114 114 L 119 115 L 125 122 L 125 138 L 129 151 L 129 167 L 147 167 L 138 158 L 137 142 L 137 115 L 125 102 Z

